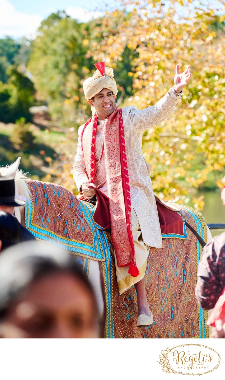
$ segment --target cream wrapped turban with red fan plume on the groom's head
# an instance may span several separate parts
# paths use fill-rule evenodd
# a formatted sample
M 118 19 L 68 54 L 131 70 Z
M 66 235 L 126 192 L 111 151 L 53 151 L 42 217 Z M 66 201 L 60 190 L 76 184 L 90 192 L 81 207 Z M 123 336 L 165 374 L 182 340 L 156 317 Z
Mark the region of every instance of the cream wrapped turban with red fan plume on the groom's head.
M 115 95 L 118 92 L 116 81 L 113 78 L 113 70 L 109 67 L 105 67 L 105 62 L 96 63 L 96 66 L 100 67 L 98 66 L 100 64 L 103 64 L 104 67 L 103 70 L 100 69 L 102 71 L 102 74 L 99 70 L 96 70 L 93 76 L 85 79 L 83 83 L 84 96 L 87 100 L 93 98 L 93 96 L 95 96 L 104 88 L 111 90 Z

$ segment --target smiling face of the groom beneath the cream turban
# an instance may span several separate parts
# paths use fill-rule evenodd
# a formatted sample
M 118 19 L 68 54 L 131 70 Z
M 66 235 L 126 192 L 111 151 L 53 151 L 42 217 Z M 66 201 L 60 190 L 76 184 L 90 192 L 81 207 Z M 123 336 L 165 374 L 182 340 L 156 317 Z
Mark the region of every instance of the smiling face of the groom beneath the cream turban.
M 105 120 L 116 107 L 115 99 L 116 95 L 111 90 L 104 88 L 92 99 L 89 99 L 88 103 L 95 107 L 98 119 Z

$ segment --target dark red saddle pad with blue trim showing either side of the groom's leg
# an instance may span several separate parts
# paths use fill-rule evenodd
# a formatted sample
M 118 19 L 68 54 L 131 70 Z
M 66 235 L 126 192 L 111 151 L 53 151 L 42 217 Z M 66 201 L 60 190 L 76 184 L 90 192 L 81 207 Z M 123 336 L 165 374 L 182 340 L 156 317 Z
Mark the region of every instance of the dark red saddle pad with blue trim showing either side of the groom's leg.
M 99 189 L 96 190 L 97 203 L 93 214 L 95 223 L 100 225 L 104 230 L 110 229 L 109 215 L 109 198 Z M 162 234 L 177 234 L 184 235 L 184 222 L 181 215 L 168 209 L 161 203 L 156 202 L 158 218 Z

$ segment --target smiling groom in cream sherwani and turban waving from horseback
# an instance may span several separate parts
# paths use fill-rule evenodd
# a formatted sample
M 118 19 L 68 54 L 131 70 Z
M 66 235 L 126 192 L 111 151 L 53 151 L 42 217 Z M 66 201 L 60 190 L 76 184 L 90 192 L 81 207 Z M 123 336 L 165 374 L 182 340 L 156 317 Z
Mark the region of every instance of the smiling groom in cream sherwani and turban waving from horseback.
M 144 274 L 149 246 L 162 247 L 162 235 L 149 165 L 141 152 L 142 133 L 165 120 L 182 97 L 191 77 L 190 66 L 176 66 L 174 87 L 154 106 L 120 109 L 111 68 L 95 63 L 93 77 L 83 83 L 92 119 L 79 128 L 73 177 L 87 200 L 100 191 L 108 197 L 116 275 L 122 294 L 135 285 L 138 326 L 151 325 L 153 316 L 146 297 Z M 93 199 L 92 199 L 93 200 Z

